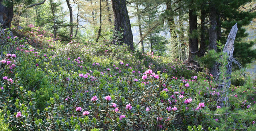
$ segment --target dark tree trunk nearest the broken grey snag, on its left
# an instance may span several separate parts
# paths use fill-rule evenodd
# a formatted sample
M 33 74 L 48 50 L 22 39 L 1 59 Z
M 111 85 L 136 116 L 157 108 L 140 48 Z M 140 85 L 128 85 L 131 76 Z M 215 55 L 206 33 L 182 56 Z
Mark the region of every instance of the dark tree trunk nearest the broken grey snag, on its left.
M 217 52 L 217 9 L 215 3 L 211 0 L 209 1 L 210 8 L 210 29 L 209 29 L 209 49 L 214 49 Z M 217 75 L 217 63 L 212 65 L 210 68 L 210 73 L 213 76 Z

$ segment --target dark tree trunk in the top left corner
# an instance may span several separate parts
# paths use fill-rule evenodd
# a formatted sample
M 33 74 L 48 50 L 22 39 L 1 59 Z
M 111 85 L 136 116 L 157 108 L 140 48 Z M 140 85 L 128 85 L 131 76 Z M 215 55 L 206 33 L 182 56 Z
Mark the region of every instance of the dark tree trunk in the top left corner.
M 3 28 L 11 28 L 11 21 L 13 18 L 13 2 L 9 2 L 8 6 L 4 6 L 0 0 L 0 25 Z

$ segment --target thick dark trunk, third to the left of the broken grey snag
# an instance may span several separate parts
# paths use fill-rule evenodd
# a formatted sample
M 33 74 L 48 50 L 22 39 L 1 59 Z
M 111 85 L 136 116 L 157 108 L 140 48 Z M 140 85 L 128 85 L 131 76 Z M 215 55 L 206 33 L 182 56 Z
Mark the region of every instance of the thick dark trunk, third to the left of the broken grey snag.
M 197 16 L 196 10 L 191 8 L 189 9 L 189 56 L 188 61 L 192 65 L 197 66 L 197 62 L 195 61 L 196 54 L 198 53 L 198 40 L 194 33 L 197 31 Z

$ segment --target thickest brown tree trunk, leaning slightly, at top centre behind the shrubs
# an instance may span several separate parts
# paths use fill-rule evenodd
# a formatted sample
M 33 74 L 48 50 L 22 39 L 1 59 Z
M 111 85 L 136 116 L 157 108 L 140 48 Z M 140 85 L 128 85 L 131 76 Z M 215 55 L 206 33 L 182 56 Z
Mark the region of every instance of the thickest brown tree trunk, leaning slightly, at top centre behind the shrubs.
M 130 49 L 133 50 L 132 29 L 131 29 L 131 23 L 129 20 L 129 15 L 126 8 L 125 0 L 111 0 L 111 1 L 112 1 L 113 12 L 114 12 L 114 26 L 115 26 L 114 29 L 124 33 L 121 41 L 129 45 Z M 121 31 L 120 28 L 123 29 L 123 31 Z M 113 43 L 115 44 L 115 42 Z

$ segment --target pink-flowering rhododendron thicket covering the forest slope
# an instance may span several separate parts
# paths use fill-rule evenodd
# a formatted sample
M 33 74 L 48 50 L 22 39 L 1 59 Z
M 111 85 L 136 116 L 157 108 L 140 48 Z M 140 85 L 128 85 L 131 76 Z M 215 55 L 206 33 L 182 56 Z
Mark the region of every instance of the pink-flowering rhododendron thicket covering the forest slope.
M 0 59 L 0 120 L 10 130 L 255 130 L 253 81 L 231 85 L 220 106 L 214 78 L 181 61 L 108 41 L 47 44 L 18 43 Z

